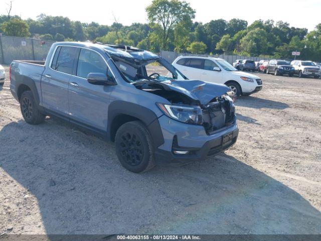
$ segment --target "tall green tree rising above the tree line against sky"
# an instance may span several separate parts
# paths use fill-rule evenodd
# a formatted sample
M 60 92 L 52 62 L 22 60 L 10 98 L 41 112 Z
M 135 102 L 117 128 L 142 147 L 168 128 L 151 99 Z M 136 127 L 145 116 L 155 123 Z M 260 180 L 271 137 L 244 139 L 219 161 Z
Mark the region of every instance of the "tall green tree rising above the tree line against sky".
M 153 0 L 146 8 L 150 23 L 159 24 L 162 28 L 162 48 L 168 48 L 169 33 L 181 21 L 195 18 L 195 10 L 189 3 L 179 0 Z

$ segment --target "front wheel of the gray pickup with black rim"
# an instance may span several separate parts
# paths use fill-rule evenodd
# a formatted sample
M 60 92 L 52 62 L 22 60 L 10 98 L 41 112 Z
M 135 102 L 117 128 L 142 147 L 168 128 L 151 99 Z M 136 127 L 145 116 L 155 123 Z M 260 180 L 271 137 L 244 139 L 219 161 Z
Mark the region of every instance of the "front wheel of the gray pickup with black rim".
M 115 148 L 120 164 L 128 171 L 142 173 L 156 165 L 150 133 L 140 121 L 120 126 L 115 136 Z

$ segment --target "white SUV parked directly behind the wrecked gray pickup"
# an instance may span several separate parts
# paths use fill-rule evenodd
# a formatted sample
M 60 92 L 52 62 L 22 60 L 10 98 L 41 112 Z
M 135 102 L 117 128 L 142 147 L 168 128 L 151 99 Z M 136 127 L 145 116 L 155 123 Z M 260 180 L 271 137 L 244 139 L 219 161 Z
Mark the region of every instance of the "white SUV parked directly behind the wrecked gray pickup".
M 201 56 L 180 56 L 173 65 L 189 79 L 220 83 L 238 95 L 250 95 L 262 89 L 262 80 L 250 73 L 238 71 L 224 59 Z

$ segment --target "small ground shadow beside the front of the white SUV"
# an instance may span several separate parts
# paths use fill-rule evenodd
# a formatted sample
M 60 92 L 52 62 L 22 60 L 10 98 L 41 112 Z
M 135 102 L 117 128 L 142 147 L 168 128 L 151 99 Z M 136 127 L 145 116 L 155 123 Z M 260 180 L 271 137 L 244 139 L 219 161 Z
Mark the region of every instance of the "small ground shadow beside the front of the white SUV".
M 236 103 L 236 106 L 248 107 L 248 108 L 270 108 L 270 109 L 285 109 L 288 108 L 289 105 L 286 103 L 282 103 L 279 101 L 262 99 L 254 96 L 240 96 Z

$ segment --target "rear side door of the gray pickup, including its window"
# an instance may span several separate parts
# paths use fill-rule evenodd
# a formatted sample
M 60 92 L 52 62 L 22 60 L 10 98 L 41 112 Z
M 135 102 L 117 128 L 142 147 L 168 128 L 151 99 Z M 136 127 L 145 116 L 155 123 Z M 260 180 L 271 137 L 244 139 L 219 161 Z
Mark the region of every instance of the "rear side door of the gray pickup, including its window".
M 42 104 L 48 110 L 68 116 L 68 85 L 75 73 L 79 48 L 58 46 L 41 79 Z

